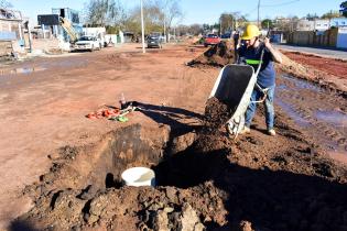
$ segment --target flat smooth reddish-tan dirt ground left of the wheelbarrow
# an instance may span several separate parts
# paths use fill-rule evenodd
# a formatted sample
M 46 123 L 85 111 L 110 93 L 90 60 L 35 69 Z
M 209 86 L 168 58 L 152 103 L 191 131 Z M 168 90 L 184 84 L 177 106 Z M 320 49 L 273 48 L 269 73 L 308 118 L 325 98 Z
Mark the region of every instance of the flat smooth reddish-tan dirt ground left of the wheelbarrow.
M 85 118 L 105 105 L 126 99 L 153 106 L 203 111 L 217 69 L 192 69 L 185 62 L 203 47 L 150 50 L 130 45 L 68 57 L 36 58 L 2 68 L 0 78 L 0 217 L 2 224 L 28 210 L 18 199 L 26 184 L 39 179 L 51 162 L 47 155 L 64 145 L 94 142 L 130 123 L 158 127 L 150 117 L 133 113 L 122 124 Z M 19 68 L 40 69 L 15 74 Z

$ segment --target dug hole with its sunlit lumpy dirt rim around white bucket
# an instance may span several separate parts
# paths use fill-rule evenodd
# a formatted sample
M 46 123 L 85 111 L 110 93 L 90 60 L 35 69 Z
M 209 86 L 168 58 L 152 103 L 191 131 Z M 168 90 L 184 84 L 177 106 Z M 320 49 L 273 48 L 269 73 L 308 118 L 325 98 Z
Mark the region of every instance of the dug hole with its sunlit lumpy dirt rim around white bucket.
M 51 170 L 26 188 L 28 194 L 35 194 L 36 206 L 19 221 L 52 230 L 104 226 L 111 230 L 161 230 L 166 226 L 198 231 L 205 226 L 221 226 L 226 222 L 223 194 L 212 179 L 223 169 L 226 153 L 205 148 L 196 142 L 194 131 L 178 133 L 172 136 L 169 127 L 134 124 L 107 134 L 100 143 L 62 148 L 59 155 L 51 155 Z M 123 187 L 121 173 L 134 166 L 154 169 L 156 187 Z M 187 189 L 192 187 L 197 187 L 194 195 Z M 214 196 L 206 195 L 205 187 Z M 199 204 L 208 198 L 210 202 L 202 210 L 218 213 L 216 218 L 202 216 L 196 209 L 196 194 L 202 195 Z M 207 209 L 216 205 L 216 210 Z M 106 208 L 109 206 L 112 208 Z M 209 220 L 204 222 L 205 217 Z

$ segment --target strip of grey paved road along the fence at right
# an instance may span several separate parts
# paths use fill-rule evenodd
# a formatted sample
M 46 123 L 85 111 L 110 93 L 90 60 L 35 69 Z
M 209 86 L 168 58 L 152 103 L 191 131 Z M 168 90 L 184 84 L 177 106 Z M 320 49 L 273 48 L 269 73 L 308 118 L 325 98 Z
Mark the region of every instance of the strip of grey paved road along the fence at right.
M 283 45 L 283 44 L 275 44 L 276 48 L 280 50 L 289 50 L 295 52 L 303 52 L 303 53 L 311 53 L 327 57 L 340 58 L 347 61 L 347 51 L 340 50 L 330 50 L 330 48 L 315 48 L 315 47 L 305 47 L 305 46 L 294 46 L 294 45 Z

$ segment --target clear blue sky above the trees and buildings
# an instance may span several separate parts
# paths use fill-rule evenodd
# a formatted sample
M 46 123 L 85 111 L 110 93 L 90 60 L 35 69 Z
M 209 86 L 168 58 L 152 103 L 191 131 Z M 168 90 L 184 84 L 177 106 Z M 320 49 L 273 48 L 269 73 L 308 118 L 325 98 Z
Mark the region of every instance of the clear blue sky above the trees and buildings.
M 51 13 L 52 8 L 72 8 L 83 10 L 88 0 L 8 0 L 13 8 L 36 21 L 37 14 Z M 127 8 L 140 3 L 140 0 L 120 0 Z M 145 1 L 145 0 L 143 0 Z M 276 15 L 304 16 L 307 13 L 322 15 L 329 10 L 338 10 L 344 0 L 261 0 L 260 18 Z M 239 11 L 257 20 L 258 0 L 181 0 L 184 19 L 181 23 L 214 23 L 223 12 Z

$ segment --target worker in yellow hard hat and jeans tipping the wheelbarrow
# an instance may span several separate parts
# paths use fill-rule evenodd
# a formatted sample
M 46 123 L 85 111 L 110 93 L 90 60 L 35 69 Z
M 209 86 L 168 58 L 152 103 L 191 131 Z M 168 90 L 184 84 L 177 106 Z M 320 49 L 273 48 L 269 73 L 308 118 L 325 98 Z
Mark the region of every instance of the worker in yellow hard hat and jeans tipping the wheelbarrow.
M 247 25 L 242 36 L 241 45 L 238 48 L 238 63 L 251 65 L 257 70 L 261 63 L 256 87 L 251 94 L 251 102 L 248 106 L 245 118 L 245 128 L 241 133 L 250 133 L 251 121 L 257 109 L 257 101 L 264 102 L 265 123 L 269 135 L 275 135 L 273 129 L 274 109 L 273 96 L 275 87 L 275 70 L 273 62 L 282 63 L 281 55 L 272 47 L 270 38 L 259 40 L 260 31 L 257 25 Z M 263 54 L 262 54 L 263 53 Z M 261 58 L 262 57 L 262 58 Z M 262 59 L 262 61 L 261 61 Z

